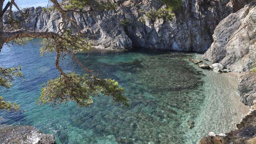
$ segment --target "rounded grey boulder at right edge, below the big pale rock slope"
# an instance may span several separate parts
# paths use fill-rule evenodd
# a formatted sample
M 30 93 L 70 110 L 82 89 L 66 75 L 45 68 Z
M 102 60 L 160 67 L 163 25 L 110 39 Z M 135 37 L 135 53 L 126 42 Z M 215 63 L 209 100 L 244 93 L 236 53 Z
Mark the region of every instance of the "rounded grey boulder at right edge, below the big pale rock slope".
M 238 84 L 238 91 L 241 96 L 241 101 L 249 106 L 254 105 L 256 100 L 256 73 L 244 72 L 241 76 L 241 81 Z

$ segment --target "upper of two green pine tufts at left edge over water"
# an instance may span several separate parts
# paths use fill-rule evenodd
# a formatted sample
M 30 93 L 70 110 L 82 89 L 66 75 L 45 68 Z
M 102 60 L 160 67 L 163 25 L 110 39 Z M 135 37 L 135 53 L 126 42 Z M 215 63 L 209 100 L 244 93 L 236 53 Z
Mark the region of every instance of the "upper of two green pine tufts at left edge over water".
M 10 88 L 14 77 L 23 77 L 21 66 L 19 68 L 0 67 L 0 86 Z

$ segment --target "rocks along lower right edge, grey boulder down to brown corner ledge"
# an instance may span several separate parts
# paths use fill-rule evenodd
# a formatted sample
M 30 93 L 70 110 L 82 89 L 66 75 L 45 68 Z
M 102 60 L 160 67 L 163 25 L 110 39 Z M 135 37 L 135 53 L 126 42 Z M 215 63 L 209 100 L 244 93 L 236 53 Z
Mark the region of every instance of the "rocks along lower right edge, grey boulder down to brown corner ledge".
M 256 73 L 244 72 L 238 84 L 241 101 L 252 107 L 252 112 L 237 124 L 237 130 L 223 135 L 206 136 L 200 144 L 256 144 Z

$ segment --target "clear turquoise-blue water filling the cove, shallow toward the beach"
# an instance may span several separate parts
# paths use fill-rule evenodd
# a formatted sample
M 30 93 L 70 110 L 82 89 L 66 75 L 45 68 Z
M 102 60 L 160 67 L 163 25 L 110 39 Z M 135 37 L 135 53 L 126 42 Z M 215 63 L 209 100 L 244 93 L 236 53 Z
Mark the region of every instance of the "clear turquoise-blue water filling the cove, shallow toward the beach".
M 242 118 L 228 79 L 188 61 L 198 55 L 152 51 L 77 55 L 95 73 L 118 80 L 131 101 L 129 107 L 103 96 L 95 97 L 90 108 L 74 103 L 58 110 L 39 107 L 40 84 L 58 76 L 54 54 L 40 58 L 39 42 L 4 48 L 0 53 L 1 66 L 21 65 L 25 76 L 0 95 L 26 111 L 0 111 L 0 124 L 35 126 L 54 134 L 57 144 L 194 144 L 208 132 L 234 129 Z M 69 58 L 61 65 L 67 72 L 73 70 Z M 195 127 L 186 128 L 187 120 L 194 120 Z

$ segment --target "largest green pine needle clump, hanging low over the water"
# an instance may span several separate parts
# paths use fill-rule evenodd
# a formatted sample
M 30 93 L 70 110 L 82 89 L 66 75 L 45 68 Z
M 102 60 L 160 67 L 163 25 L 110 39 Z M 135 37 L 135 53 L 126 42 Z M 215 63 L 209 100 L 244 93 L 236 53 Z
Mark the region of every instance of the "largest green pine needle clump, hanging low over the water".
M 48 103 L 56 106 L 74 101 L 79 106 L 90 106 L 93 103 L 92 97 L 102 93 L 113 96 L 115 102 L 122 102 L 128 106 L 126 97 L 122 96 L 124 89 L 118 86 L 118 82 L 111 79 L 99 79 L 94 76 L 89 78 L 88 74 L 80 76 L 70 73 L 49 80 L 44 86 L 39 99 L 40 104 Z

